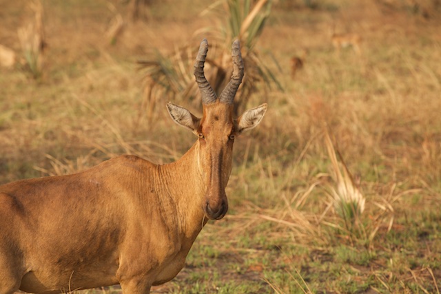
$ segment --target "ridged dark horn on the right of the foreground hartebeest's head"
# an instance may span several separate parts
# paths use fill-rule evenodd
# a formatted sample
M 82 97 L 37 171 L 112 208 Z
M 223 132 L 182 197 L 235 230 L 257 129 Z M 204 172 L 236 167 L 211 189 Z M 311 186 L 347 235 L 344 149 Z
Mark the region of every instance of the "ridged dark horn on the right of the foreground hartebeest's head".
M 222 91 L 219 96 L 219 101 L 225 104 L 233 104 L 234 96 L 238 90 L 243 78 L 243 60 L 242 54 L 240 54 L 240 42 L 234 41 L 232 45 L 232 57 L 233 57 L 233 74 L 229 80 L 227 87 Z

